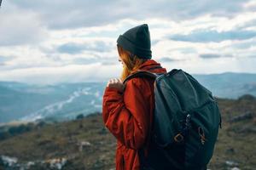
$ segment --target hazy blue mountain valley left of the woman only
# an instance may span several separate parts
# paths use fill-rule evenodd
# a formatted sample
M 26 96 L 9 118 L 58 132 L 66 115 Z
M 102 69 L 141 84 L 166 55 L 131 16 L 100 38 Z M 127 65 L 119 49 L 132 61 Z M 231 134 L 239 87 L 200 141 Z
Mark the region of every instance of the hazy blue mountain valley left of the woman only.
M 100 82 L 50 86 L 0 82 L 0 122 L 62 120 L 100 111 L 102 88 Z

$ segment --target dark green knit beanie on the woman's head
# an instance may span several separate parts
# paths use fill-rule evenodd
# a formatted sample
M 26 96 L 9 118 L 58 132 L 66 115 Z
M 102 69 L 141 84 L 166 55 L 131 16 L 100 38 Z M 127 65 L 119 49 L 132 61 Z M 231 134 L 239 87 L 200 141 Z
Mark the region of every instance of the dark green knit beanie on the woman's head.
M 119 36 L 117 43 L 131 54 L 136 54 L 140 59 L 152 58 L 150 33 L 147 24 L 135 26 L 125 31 L 123 35 Z

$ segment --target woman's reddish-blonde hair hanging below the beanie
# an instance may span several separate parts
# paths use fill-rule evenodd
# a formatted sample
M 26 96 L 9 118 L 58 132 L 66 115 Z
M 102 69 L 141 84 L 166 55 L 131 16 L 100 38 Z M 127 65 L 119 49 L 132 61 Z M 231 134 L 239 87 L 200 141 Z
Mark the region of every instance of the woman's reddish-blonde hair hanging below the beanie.
M 131 54 L 121 46 L 117 45 L 119 56 L 124 61 L 124 67 L 120 79 L 125 80 L 126 77 L 137 71 L 139 66 L 148 59 L 140 59 L 137 55 Z

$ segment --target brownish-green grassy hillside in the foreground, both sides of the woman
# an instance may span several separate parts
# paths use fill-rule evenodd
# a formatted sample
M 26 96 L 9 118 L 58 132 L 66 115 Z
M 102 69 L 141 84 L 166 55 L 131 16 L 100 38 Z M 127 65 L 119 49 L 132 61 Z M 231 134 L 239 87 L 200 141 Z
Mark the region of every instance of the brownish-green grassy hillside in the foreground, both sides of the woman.
M 244 95 L 218 99 L 218 104 L 222 128 L 207 168 L 256 169 L 256 99 Z M 1 131 L 6 139 L 1 139 Z M 0 128 L 0 169 L 111 170 L 115 149 L 116 139 L 104 127 L 101 113 Z

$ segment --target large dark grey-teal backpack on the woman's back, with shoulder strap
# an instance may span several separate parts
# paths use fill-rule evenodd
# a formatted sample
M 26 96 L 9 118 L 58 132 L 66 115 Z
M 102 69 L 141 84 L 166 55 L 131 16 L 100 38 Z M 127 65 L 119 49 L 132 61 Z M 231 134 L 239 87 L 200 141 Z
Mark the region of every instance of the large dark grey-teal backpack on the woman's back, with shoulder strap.
M 127 77 L 154 78 L 154 124 L 148 156 L 138 150 L 141 169 L 205 170 L 221 127 L 212 93 L 183 70 L 137 71 Z

